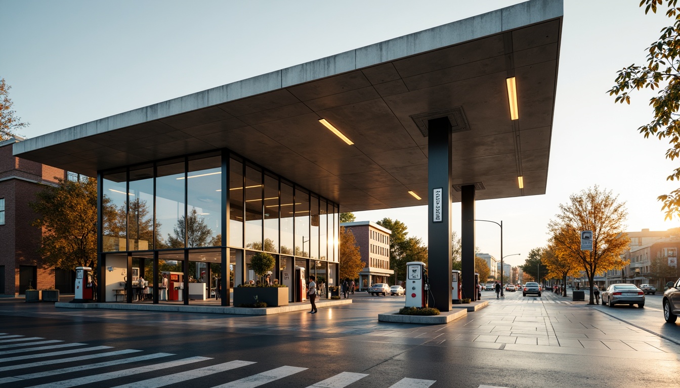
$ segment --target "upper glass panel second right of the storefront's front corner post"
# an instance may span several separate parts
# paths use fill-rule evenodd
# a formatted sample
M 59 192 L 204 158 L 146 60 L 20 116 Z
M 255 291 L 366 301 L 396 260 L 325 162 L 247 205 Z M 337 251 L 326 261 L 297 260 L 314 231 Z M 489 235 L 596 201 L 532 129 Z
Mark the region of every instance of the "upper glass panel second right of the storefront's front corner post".
M 262 173 L 245 167 L 245 247 L 262 250 Z

